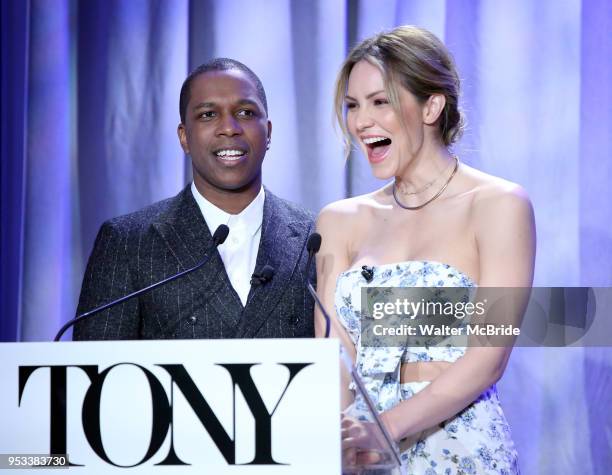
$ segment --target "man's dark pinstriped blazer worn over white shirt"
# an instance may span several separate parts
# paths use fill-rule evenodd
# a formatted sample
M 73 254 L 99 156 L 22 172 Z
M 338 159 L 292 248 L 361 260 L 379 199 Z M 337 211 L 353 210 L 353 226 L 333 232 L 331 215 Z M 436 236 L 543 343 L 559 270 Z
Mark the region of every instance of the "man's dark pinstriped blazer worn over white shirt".
M 314 302 L 304 272 L 313 222 L 312 213 L 266 189 L 255 268 L 268 264 L 275 273 L 251 287 L 245 307 L 215 249 L 197 271 L 79 322 L 73 338 L 312 337 Z M 190 187 L 105 222 L 87 264 L 77 314 L 195 266 L 211 244 Z

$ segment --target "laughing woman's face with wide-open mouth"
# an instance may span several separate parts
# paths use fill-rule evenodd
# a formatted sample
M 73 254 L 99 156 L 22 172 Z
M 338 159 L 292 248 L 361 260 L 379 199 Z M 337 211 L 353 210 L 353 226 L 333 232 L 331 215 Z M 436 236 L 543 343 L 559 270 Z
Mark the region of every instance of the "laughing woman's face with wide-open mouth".
M 346 94 L 347 125 L 359 143 L 376 178 L 402 175 L 423 145 L 423 106 L 398 87 L 405 128 L 389 104 L 382 73 L 362 60 L 349 76 Z

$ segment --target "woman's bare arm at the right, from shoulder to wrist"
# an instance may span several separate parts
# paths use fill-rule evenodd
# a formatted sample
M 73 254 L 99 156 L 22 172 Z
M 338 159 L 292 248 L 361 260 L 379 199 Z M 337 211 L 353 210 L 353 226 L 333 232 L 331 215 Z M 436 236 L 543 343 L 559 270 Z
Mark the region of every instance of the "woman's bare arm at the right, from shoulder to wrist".
M 531 287 L 535 223 L 529 198 L 519 187 L 498 188 L 482 195 L 473 208 L 479 286 Z M 418 434 L 470 405 L 501 378 L 511 350 L 511 347 L 468 348 L 464 356 L 425 389 L 382 414 L 394 439 Z

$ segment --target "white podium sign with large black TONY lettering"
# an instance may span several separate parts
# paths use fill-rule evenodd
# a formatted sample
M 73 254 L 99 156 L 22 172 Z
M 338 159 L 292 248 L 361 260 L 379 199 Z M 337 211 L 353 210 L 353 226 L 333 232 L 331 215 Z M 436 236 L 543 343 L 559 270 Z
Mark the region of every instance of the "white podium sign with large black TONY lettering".
M 323 339 L 0 344 L 0 454 L 67 453 L 74 473 L 339 474 L 338 354 Z

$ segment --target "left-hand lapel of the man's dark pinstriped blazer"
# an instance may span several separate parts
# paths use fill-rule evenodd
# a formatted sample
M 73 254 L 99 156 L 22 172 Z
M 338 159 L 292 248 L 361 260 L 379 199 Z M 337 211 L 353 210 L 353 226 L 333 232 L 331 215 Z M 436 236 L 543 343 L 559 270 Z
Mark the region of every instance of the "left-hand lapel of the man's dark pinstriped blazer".
M 197 265 L 212 246 L 211 232 L 191 194 L 190 187 L 185 188 L 177 196 L 176 206 L 165 215 L 160 216 L 158 222 L 153 226 L 178 261 L 180 270 Z M 212 251 L 209 262 L 182 278 L 188 281 L 194 292 L 201 294 L 204 299 L 210 300 L 213 295 L 216 295 L 223 305 L 211 305 L 208 308 L 222 307 L 224 313 L 220 316 L 225 323 L 235 328 L 242 313 L 242 304 L 229 281 L 216 248 Z M 231 336 L 226 332 L 224 334 Z M 205 335 L 205 337 L 215 338 L 215 335 Z

